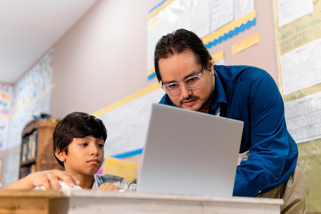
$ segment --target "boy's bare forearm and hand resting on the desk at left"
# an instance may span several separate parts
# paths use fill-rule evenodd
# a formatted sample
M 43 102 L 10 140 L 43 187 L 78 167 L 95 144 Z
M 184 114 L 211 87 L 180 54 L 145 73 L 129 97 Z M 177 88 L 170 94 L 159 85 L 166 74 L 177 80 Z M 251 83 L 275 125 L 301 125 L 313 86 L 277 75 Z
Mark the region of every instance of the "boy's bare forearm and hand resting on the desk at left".
M 48 189 L 61 189 L 61 185 L 58 180 L 63 180 L 71 188 L 76 184 L 79 185 L 79 181 L 75 176 L 62 170 L 53 169 L 45 171 L 37 171 L 28 174 L 25 178 L 8 185 L 6 189 L 34 189 L 37 186 L 44 186 Z

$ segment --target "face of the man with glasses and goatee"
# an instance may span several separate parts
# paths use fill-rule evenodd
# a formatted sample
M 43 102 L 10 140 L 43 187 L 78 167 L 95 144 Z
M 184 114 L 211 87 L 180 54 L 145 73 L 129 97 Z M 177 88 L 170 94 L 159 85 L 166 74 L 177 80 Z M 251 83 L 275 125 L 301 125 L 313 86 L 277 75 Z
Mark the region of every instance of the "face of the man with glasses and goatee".
M 210 71 L 204 69 L 201 77 L 202 83 L 199 88 L 187 89 L 185 85 L 180 86 L 180 93 L 169 95 L 171 101 L 180 108 L 207 113 L 210 105 L 212 93 L 215 86 L 213 62 L 207 65 Z M 198 64 L 192 52 L 178 53 L 168 58 L 162 58 L 158 62 L 159 73 L 162 77 L 163 85 L 183 82 L 186 78 L 200 73 L 202 65 Z

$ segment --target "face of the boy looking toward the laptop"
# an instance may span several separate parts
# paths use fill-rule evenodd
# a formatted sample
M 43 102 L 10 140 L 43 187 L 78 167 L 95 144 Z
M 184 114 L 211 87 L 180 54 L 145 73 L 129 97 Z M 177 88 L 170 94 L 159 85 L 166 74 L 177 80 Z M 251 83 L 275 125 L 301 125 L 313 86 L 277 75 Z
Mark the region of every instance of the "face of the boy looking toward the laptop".
M 103 138 L 98 139 L 93 136 L 73 138 L 68 145 L 68 154 L 63 152 L 61 160 L 64 162 L 66 172 L 81 175 L 95 174 L 103 164 L 104 144 Z

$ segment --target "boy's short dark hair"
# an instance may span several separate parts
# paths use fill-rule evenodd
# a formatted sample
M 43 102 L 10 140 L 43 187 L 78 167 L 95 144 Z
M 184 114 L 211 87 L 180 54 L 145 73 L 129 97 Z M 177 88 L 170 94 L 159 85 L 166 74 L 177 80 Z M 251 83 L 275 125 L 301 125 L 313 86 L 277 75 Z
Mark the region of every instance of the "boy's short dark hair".
M 58 122 L 53 131 L 53 151 L 68 153 L 68 145 L 73 138 L 84 138 L 92 135 L 95 138 L 107 139 L 106 127 L 102 120 L 83 112 L 73 112 Z M 55 156 L 59 165 L 64 167 Z

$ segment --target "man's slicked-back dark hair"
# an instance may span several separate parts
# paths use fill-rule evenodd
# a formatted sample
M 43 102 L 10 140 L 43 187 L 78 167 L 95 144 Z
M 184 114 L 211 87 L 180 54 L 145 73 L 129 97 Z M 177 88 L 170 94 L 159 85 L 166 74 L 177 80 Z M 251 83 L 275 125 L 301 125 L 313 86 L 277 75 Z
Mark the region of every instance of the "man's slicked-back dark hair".
M 154 52 L 154 66 L 158 82 L 162 81 L 159 73 L 158 62 L 162 58 L 168 58 L 176 53 L 191 51 L 195 54 L 196 62 L 200 65 L 207 66 L 212 57 L 203 44 L 201 38 L 195 33 L 178 29 L 172 33 L 164 35 L 158 40 Z

